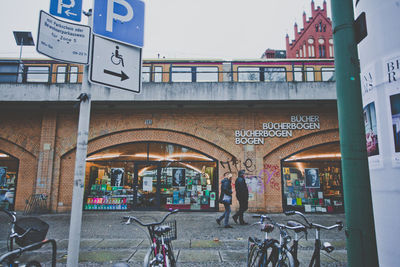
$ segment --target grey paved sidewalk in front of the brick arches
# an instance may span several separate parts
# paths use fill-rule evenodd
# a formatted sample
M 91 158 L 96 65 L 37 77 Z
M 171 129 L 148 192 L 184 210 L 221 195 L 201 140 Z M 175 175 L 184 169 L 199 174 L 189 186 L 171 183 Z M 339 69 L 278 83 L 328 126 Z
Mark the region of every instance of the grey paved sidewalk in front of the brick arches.
M 124 215 L 133 215 L 147 222 L 162 218 L 165 212 L 84 212 L 79 266 L 112 266 L 112 263 L 125 261 L 130 266 L 141 266 L 143 257 L 149 246 L 145 232 L 137 225 L 124 225 L 121 218 Z M 220 214 L 220 213 L 218 213 Z M 68 249 L 69 214 L 40 215 L 42 220 L 50 225 L 47 238 L 57 240 L 57 266 L 65 266 Z M 225 229 L 215 222 L 217 213 L 209 212 L 181 212 L 172 215 L 176 219 L 178 239 L 173 241 L 178 266 L 246 266 L 247 238 L 256 236 L 262 238 L 259 226 L 236 225 Z M 277 222 L 288 220 L 283 214 L 271 214 Z M 310 215 L 312 221 L 331 225 L 337 220 L 344 220 L 344 215 Z M 153 218 L 153 219 L 152 219 Z M 291 218 L 293 219 L 293 218 Z M 246 214 L 246 220 L 254 223 L 257 219 Z M 7 218 L 0 217 L 1 229 L 7 229 Z M 278 237 L 277 231 L 273 236 Z M 328 241 L 335 247 L 331 254 L 323 253 L 323 266 L 346 266 L 346 248 L 344 232 L 337 230 L 323 231 L 322 241 Z M 6 234 L 0 233 L 0 249 L 5 251 Z M 308 240 L 304 238 L 300 243 L 299 255 L 301 266 L 307 266 L 311 258 L 314 233 L 309 232 Z M 50 261 L 50 246 L 44 247 L 24 255 L 40 261 Z M 46 266 L 50 266 L 46 264 Z

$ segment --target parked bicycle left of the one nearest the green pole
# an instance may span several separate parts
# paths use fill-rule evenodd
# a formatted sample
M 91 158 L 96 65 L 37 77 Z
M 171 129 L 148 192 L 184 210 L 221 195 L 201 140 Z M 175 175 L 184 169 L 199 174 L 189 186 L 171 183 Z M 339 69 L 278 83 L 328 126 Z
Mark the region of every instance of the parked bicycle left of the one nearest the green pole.
M 288 235 L 286 229 L 294 230 L 296 227 L 276 223 L 266 215 L 257 215 L 255 217 L 260 217 L 260 221 L 255 224 L 261 225 L 261 231 L 265 232 L 265 237 L 263 240 L 249 237 L 247 266 L 294 267 L 294 258 L 288 248 L 291 237 Z M 265 223 L 266 220 L 270 223 Z M 279 241 L 268 237 L 268 234 L 275 228 L 279 230 Z

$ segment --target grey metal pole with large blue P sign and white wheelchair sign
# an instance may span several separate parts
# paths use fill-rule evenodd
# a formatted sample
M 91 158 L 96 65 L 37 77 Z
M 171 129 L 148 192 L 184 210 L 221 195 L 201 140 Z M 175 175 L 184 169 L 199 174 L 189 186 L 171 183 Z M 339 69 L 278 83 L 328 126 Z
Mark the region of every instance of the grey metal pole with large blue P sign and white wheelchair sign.
M 60 0 L 59 0 L 60 1 Z M 71 0 L 73 2 L 74 0 Z M 100 3 L 100 6 L 99 6 Z M 110 87 L 139 92 L 141 87 L 141 49 L 143 46 L 144 3 L 139 0 L 95 0 L 93 21 L 97 32 L 106 38 L 94 37 L 90 80 Z M 89 23 L 91 23 L 89 19 Z M 91 26 L 91 25 L 89 25 Z M 89 41 L 88 41 L 89 44 Z M 79 111 L 74 188 L 68 241 L 67 266 L 78 266 L 82 225 L 82 206 L 90 121 L 89 66 L 85 66 Z

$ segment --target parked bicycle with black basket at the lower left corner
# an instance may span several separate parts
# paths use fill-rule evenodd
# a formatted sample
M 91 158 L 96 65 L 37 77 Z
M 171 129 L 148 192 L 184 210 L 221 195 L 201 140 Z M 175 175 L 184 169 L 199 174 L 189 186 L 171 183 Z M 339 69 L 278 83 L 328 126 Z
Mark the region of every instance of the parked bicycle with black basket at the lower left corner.
M 2 209 L 11 218 L 10 235 L 7 239 L 8 252 L 0 256 L 0 264 L 9 267 L 19 267 L 18 258 L 26 251 L 40 249 L 43 245 L 50 243 L 52 246 L 51 266 L 56 266 L 57 244 L 54 239 L 45 240 L 49 225 L 35 217 L 17 219 L 16 213 Z M 16 243 L 19 248 L 14 248 Z M 40 262 L 30 260 L 26 267 L 40 267 Z

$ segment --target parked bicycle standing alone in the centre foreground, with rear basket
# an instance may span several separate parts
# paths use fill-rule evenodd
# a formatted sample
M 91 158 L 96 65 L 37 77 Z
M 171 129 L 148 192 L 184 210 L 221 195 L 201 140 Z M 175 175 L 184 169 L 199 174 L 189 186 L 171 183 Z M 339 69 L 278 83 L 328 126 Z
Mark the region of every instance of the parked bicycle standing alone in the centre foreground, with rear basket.
M 175 267 L 176 260 L 172 247 L 172 240 L 177 238 L 176 221 L 164 223 L 167 217 L 177 213 L 179 210 L 173 210 L 167 213 L 159 222 L 143 223 L 133 216 L 125 216 L 126 224 L 131 224 L 132 221 L 137 222 L 143 227 L 147 227 L 150 239 L 150 248 L 148 249 L 143 266 L 148 267 Z

